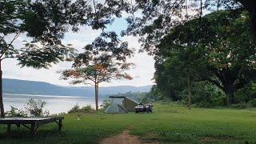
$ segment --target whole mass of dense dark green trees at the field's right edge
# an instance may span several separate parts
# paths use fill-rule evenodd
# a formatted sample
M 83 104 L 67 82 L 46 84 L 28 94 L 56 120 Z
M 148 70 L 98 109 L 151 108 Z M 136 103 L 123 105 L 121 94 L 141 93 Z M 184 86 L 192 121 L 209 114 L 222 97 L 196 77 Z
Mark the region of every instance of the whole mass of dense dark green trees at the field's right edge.
M 186 90 L 189 106 L 197 103 L 194 94 L 206 97 L 209 89 L 225 96 L 221 105 L 254 101 L 256 43 L 249 21 L 244 10 L 221 10 L 175 26 L 157 46 L 157 89 L 174 101 Z

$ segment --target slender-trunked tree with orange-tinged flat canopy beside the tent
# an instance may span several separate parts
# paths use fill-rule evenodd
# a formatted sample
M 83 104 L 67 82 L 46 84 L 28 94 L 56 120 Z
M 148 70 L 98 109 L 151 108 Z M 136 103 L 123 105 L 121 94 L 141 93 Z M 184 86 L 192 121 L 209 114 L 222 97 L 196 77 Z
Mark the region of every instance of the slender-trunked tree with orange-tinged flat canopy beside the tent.
M 62 79 L 71 79 L 72 84 L 92 85 L 95 89 L 95 107 L 98 110 L 99 84 L 111 80 L 128 79 L 132 77 L 126 73 L 131 63 L 116 62 L 109 54 L 94 57 L 89 63 L 85 61 L 85 54 L 75 58 L 73 68 L 62 71 Z

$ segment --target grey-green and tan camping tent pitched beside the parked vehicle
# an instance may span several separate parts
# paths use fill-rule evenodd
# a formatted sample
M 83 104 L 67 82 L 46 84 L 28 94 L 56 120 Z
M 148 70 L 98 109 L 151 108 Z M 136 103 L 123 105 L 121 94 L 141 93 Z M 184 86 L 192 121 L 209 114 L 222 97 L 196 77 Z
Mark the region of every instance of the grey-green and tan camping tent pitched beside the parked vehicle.
M 111 104 L 105 110 L 105 113 L 122 114 L 127 112 L 134 112 L 134 107 L 138 105 L 138 102 L 127 97 L 110 96 Z

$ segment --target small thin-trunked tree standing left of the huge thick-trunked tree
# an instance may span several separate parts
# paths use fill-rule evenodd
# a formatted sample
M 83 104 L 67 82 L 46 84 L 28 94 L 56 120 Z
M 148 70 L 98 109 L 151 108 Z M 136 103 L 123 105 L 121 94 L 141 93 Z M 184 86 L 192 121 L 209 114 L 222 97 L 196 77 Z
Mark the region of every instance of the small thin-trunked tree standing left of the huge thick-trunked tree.
M 162 70 L 162 73 L 165 74 L 163 78 L 174 80 L 166 83 L 166 86 L 163 87 L 171 90 L 177 89 L 178 86 L 186 87 L 189 109 L 192 105 L 194 83 L 202 80 L 201 74 L 205 70 L 202 59 L 202 54 L 195 51 L 194 48 L 187 47 L 186 50 L 172 50 L 168 57 L 162 58 L 163 62 L 160 64 L 164 67 L 164 70 Z M 160 77 L 160 79 L 158 73 L 155 75 L 156 82 L 160 84 L 163 78 Z M 174 86 L 171 86 L 171 84 L 174 84 Z

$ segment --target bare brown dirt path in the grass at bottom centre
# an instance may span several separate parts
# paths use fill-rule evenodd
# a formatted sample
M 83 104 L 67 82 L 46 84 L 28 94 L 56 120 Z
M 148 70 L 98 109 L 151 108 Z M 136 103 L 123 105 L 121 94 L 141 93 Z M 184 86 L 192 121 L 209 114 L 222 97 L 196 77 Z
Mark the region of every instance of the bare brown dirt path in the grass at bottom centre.
M 148 142 L 141 142 L 137 136 L 130 135 L 129 130 L 125 130 L 122 134 L 112 136 L 104 139 L 101 144 L 143 144 Z

